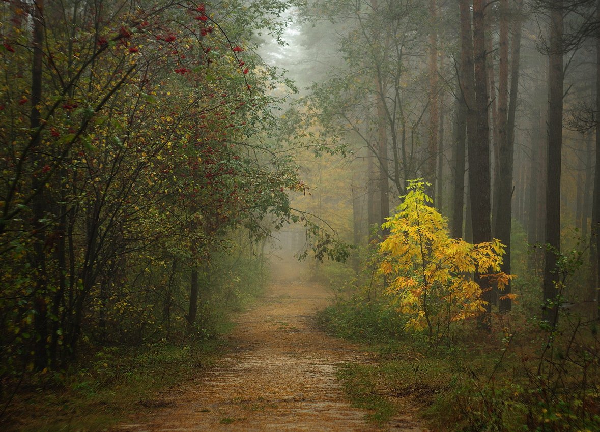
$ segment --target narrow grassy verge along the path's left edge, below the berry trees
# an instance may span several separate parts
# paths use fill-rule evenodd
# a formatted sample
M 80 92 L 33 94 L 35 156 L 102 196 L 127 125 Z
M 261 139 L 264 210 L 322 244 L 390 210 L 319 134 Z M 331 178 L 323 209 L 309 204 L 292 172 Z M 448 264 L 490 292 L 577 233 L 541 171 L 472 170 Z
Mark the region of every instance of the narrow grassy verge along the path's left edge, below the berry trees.
M 161 392 L 189 382 L 223 356 L 228 348 L 223 336 L 235 328 L 232 313 L 254 307 L 265 280 L 248 283 L 229 300 L 215 303 L 217 307 L 200 316 L 203 322 L 194 334 L 179 331 L 178 342 L 90 346 L 68 370 L 25 374 L 0 418 L 0 430 L 104 431 L 137 413 L 168 406 Z M 209 332 L 202 330 L 207 327 Z M 5 394 L 17 385 L 1 384 Z M 0 410 L 5 404 L 2 400 Z

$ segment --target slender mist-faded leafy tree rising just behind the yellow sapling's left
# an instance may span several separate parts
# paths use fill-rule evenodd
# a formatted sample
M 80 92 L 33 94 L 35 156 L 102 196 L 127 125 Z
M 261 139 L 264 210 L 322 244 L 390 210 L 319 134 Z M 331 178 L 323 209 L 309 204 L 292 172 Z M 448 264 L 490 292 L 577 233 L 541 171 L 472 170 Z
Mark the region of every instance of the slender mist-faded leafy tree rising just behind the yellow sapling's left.
M 295 126 L 294 135 L 302 135 L 298 126 L 318 124 L 316 138 L 321 143 L 340 142 L 348 134 L 359 137 L 376 161 L 378 175 L 370 182 L 379 194 L 378 215 L 373 220 L 382 222 L 389 215 L 388 185 L 401 195 L 405 180 L 416 173 L 429 170 L 435 176 L 437 155 L 430 156 L 428 145 L 437 142 L 439 121 L 435 120 L 436 132 L 430 140 L 425 113 L 430 99 L 438 98 L 438 90 L 430 89 L 437 70 L 430 74 L 418 68 L 424 49 L 421 36 L 430 29 L 428 16 L 422 13 L 427 6 L 373 0 L 317 2 L 315 7 L 320 17 L 347 23 L 340 36 L 346 64 L 332 72 L 326 83 L 314 84 L 310 95 L 286 117 Z M 437 59 L 432 65 L 436 64 Z

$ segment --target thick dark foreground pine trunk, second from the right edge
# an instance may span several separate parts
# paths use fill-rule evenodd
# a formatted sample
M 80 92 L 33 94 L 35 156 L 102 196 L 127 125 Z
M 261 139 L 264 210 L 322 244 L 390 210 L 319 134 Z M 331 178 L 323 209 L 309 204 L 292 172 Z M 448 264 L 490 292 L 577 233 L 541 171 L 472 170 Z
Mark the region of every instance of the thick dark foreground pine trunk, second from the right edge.
M 544 319 L 555 322 L 557 307 L 556 254 L 560 252 L 560 167 L 562 161 L 563 114 L 563 17 L 562 0 L 550 14 L 550 56 L 548 61 L 548 165 L 546 179 L 546 235 L 547 250 L 544 263 Z

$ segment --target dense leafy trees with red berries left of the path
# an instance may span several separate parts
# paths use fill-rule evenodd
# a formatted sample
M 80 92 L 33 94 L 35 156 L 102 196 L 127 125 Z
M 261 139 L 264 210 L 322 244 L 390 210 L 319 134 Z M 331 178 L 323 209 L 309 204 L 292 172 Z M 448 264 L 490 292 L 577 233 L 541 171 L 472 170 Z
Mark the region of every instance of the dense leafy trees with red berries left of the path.
M 248 282 L 215 259 L 233 265 L 217 256 L 260 251 L 298 221 L 288 193 L 304 188 L 262 139 L 283 102 L 271 90 L 291 83 L 252 51 L 258 32 L 281 35 L 286 3 L 44 6 L 0 8 L 2 379 L 64 367 L 80 348 L 180 340 L 193 268 L 190 327 L 211 336 Z M 344 259 L 334 233 L 304 222 L 317 257 Z M 232 251 L 238 237 L 250 240 Z

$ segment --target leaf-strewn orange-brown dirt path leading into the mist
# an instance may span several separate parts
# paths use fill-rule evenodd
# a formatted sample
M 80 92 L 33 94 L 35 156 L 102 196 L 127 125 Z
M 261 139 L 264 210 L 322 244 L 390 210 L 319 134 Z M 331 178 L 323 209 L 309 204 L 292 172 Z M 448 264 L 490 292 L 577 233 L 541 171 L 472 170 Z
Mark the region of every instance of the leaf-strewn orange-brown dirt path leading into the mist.
M 235 347 L 208 371 L 157 395 L 157 407 L 119 431 L 376 431 L 424 430 L 410 414 L 383 427 L 350 406 L 335 368 L 367 362 L 359 346 L 315 324 L 323 286 L 301 282 L 300 267 L 276 262 L 259 305 L 241 313 L 229 336 Z

